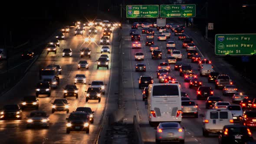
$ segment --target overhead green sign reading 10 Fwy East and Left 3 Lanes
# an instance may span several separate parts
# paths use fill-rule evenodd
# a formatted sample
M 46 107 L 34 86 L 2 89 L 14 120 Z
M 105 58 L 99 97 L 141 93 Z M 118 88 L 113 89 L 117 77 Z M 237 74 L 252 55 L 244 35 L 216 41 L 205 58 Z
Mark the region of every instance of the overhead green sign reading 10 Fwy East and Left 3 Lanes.
M 126 5 L 127 18 L 156 18 L 158 16 L 158 5 Z

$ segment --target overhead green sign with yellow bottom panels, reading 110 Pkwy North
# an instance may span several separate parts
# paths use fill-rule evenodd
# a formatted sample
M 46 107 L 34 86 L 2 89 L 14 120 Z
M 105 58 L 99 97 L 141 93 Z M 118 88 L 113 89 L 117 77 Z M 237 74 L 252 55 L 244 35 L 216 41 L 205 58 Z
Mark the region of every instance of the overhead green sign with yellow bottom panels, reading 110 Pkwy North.
M 160 17 L 195 17 L 195 4 L 160 5 Z

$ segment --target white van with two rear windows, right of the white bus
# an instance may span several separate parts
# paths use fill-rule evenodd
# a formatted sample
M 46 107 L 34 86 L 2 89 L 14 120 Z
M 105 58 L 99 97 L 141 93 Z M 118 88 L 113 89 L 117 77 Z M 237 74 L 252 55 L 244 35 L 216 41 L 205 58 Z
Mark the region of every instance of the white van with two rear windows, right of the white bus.
M 224 125 L 234 124 L 231 111 L 227 109 L 211 109 L 206 111 L 203 118 L 203 136 L 209 133 L 222 132 Z

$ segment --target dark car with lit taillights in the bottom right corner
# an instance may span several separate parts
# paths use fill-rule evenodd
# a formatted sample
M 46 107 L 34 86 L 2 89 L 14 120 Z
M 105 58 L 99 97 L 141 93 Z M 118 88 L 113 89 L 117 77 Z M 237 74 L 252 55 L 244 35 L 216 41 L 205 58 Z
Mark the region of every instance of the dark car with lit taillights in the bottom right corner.
M 248 144 L 252 141 L 252 132 L 244 125 L 225 125 L 219 135 L 219 144 Z

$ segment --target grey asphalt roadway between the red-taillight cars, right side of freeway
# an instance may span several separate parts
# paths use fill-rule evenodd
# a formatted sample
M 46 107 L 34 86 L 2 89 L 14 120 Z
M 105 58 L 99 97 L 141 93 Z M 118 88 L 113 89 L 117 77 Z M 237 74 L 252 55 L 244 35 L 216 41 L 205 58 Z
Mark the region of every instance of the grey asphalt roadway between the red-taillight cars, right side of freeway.
M 158 79 L 156 78 L 156 70 L 159 62 L 165 62 L 167 57 L 166 43 L 167 42 L 158 42 L 157 36 L 154 38 L 155 45 L 158 45 L 163 53 L 163 59 L 157 60 L 151 59 L 151 53 L 149 52 L 149 47 L 145 46 L 146 37 L 145 34 L 141 34 L 141 29 L 138 29 L 141 34 L 141 44 L 142 49 L 131 49 L 131 36 L 129 36 L 129 30 L 131 29 L 130 25 L 123 26 L 121 31 L 122 33 L 122 52 L 124 53 L 123 61 L 123 72 L 125 83 L 124 94 L 125 94 L 125 118 L 127 118 L 127 123 L 131 123 L 132 115 L 139 115 L 140 118 L 140 126 L 142 131 L 142 137 L 145 144 L 152 144 L 155 141 L 155 129 L 150 127 L 148 124 L 148 113 L 147 113 L 147 101 L 142 101 L 142 90 L 138 88 L 138 78 L 141 75 L 151 75 L 154 78 L 154 82 L 158 83 Z M 159 34 L 154 28 L 155 34 Z M 172 33 L 171 39 L 167 39 L 174 41 L 176 43 L 176 48 L 181 50 L 183 56 L 181 62 L 190 63 L 193 68 L 193 71 L 197 73 L 199 76 L 199 71 L 197 69 L 198 65 L 195 63 L 191 63 L 190 59 L 187 59 L 187 52 L 185 49 L 181 48 L 182 41 L 177 39 L 177 36 L 174 36 Z M 196 43 L 199 45 L 199 43 Z M 134 60 L 135 52 L 143 52 L 145 59 L 144 61 L 137 62 Z M 203 54 L 204 55 L 204 54 Z M 207 58 L 207 57 L 206 57 Z M 135 72 L 136 63 L 144 63 L 146 64 L 146 72 Z M 218 68 L 219 63 L 213 63 L 215 67 Z M 214 69 L 214 68 L 213 68 Z M 221 69 L 219 71 L 221 73 Z M 228 74 L 228 70 L 225 71 Z M 205 109 L 205 101 L 204 100 L 196 100 L 196 89 L 190 89 L 187 82 L 184 82 L 184 77 L 179 76 L 178 71 L 174 71 L 174 65 L 171 65 L 171 75 L 177 78 L 177 81 L 181 83 L 181 91 L 187 92 L 190 98 L 198 104 L 199 114 L 204 114 Z M 130 77 L 132 79 L 130 79 Z M 225 97 L 222 95 L 221 90 L 215 90 L 215 86 L 212 83 L 207 82 L 207 78 L 199 77 L 203 82 L 203 86 L 211 86 L 214 89 L 214 95 L 220 96 L 223 98 L 223 101 L 230 101 L 230 97 Z M 239 88 L 239 87 L 238 87 Z M 242 90 L 242 89 L 240 89 Z M 135 100 L 135 101 L 134 101 Z M 186 144 L 217 144 L 218 139 L 217 135 L 212 134 L 210 137 L 203 137 L 202 135 L 202 121 L 203 118 L 183 118 L 181 125 L 186 129 Z M 254 135 L 255 136 L 255 135 Z

